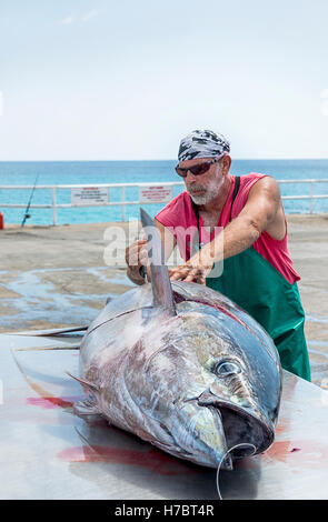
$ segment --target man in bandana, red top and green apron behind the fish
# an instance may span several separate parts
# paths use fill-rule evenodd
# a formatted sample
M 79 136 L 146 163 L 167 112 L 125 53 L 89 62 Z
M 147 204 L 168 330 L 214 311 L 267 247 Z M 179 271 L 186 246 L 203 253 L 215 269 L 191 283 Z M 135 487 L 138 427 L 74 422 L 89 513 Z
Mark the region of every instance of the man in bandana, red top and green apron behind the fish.
M 300 278 L 288 251 L 278 183 L 265 174 L 231 175 L 229 152 L 227 139 L 209 130 L 192 131 L 181 140 L 176 170 L 187 190 L 155 220 L 166 259 L 178 244 L 186 261 L 170 270 L 170 278 L 198 281 L 230 298 L 271 335 L 282 368 L 310 381 Z M 198 230 L 195 253 L 195 238 L 188 245 L 181 233 L 190 227 Z M 215 233 L 218 227 L 223 228 L 223 239 Z M 210 230 L 207 238 L 205 230 Z M 218 248 L 220 242 L 223 248 Z M 222 274 L 211 277 L 215 263 L 222 260 Z M 127 262 L 129 278 L 142 284 L 145 240 L 127 249 Z

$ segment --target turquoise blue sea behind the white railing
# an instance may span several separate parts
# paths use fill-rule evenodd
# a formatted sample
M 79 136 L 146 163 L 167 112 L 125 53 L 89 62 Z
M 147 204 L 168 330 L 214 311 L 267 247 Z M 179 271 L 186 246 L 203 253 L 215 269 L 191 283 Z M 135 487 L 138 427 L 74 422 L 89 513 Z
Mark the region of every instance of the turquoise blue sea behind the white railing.
M 58 185 L 58 184 L 92 184 L 100 183 L 149 183 L 158 184 L 163 181 L 179 182 L 181 179 L 175 171 L 176 161 L 38 161 L 38 162 L 0 162 L 0 212 L 4 223 L 21 223 L 26 208 L 33 204 L 51 204 L 51 191 L 47 189 L 2 189 L 3 185 Z M 243 175 L 249 172 L 270 174 L 280 180 L 294 181 L 280 184 L 281 195 L 309 195 L 308 183 L 297 183 L 296 180 L 316 179 L 326 182 L 314 184 L 315 195 L 328 195 L 328 160 L 233 160 L 231 173 Z M 183 187 L 173 188 L 173 197 Z M 126 201 L 138 201 L 138 188 L 126 188 Z M 121 201 L 121 189 L 110 189 L 109 200 Z M 57 203 L 71 202 L 70 189 L 57 190 Z M 4 208 L 1 204 L 22 204 L 22 208 Z M 142 204 L 155 215 L 165 204 Z M 125 219 L 138 219 L 139 204 L 126 205 Z M 328 212 L 328 198 L 315 199 L 312 209 L 309 199 L 285 200 L 286 213 Z M 51 209 L 29 209 L 27 224 L 52 224 Z M 57 209 L 57 224 L 112 222 L 122 220 L 120 205 L 64 208 Z

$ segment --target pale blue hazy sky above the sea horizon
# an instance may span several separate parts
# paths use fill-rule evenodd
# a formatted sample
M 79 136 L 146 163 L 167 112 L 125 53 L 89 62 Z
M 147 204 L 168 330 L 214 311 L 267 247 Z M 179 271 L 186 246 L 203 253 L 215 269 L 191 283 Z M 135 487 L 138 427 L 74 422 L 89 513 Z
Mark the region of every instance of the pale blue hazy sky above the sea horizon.
M 0 160 L 328 158 L 327 0 L 2 0 Z M 0 98 L 1 100 L 1 98 Z

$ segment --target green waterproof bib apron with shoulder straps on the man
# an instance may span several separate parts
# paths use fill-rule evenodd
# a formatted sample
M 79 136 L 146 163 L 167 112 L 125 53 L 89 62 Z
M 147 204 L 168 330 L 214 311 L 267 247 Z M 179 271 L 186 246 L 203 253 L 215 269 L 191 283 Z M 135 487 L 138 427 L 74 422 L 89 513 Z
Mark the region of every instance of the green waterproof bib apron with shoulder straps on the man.
M 236 177 L 232 205 L 239 190 Z M 198 208 L 192 202 L 199 231 Z M 201 243 L 198 235 L 198 248 Z M 192 245 L 195 248 L 195 243 Z M 229 299 L 259 322 L 274 339 L 285 370 L 310 381 L 310 363 L 304 333 L 305 312 L 297 283 L 290 284 L 252 247 L 225 259 L 222 274 L 210 275 L 206 284 Z

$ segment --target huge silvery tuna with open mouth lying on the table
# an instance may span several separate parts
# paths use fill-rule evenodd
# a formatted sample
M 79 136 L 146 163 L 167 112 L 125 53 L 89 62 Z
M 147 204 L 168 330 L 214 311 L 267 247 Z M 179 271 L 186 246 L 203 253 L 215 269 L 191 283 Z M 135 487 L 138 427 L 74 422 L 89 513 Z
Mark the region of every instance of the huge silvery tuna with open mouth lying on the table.
M 141 219 L 153 232 L 143 211 Z M 278 352 L 265 330 L 222 294 L 170 283 L 157 232 L 151 244 L 151 284 L 109 302 L 82 340 L 80 379 L 88 398 L 76 408 L 101 413 L 181 459 L 212 468 L 223 461 L 231 469 L 225 455 L 232 446 L 248 443 L 260 453 L 274 441 Z M 233 459 L 243 454 L 239 448 Z

